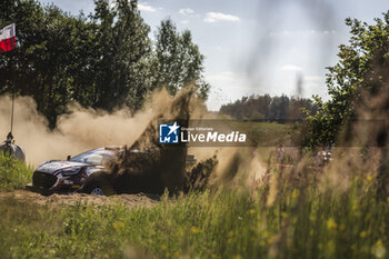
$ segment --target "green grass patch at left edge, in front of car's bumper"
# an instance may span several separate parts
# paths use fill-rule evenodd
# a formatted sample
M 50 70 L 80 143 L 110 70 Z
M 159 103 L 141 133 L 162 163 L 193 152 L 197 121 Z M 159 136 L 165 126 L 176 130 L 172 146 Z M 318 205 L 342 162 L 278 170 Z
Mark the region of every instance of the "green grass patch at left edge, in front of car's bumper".
M 31 167 L 0 151 L 0 191 L 24 188 L 31 181 Z

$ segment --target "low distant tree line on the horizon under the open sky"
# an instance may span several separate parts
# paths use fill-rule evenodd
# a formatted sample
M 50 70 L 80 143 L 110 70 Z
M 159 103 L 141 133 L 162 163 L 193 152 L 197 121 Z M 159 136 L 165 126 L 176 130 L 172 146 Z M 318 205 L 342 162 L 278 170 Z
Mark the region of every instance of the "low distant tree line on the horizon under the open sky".
M 287 97 L 270 97 L 269 94 L 242 97 L 232 103 L 220 108 L 221 114 L 228 114 L 238 120 L 295 120 L 303 119 L 317 111 L 310 99 Z

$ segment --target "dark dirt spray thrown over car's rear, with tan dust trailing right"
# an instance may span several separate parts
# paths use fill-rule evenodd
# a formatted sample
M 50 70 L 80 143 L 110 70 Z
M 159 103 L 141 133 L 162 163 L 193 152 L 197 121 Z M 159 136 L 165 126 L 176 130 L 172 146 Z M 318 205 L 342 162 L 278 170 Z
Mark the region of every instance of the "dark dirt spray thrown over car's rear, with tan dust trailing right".
M 202 111 L 202 112 L 201 112 Z M 194 117 L 196 114 L 196 117 Z M 209 118 L 197 102 L 193 89 L 183 89 L 154 114 L 137 141 L 109 168 L 108 182 L 118 193 L 170 193 L 206 187 L 246 186 L 245 180 L 258 178 L 262 171 L 256 149 L 252 148 L 189 148 L 163 146 L 158 139 L 158 119 L 169 118 L 188 127 L 193 119 Z M 131 150 L 147 150 L 139 153 Z M 250 152 L 250 153 L 249 153 Z M 187 155 L 198 162 L 188 168 Z M 256 162 L 256 161 L 257 162 Z M 173 162 L 172 162 L 173 161 Z

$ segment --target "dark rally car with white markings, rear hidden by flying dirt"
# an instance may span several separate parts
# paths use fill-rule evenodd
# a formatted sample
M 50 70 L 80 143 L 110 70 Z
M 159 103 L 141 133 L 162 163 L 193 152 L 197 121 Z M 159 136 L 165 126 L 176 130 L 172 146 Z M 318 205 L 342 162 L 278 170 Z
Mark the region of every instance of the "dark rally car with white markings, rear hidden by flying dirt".
M 106 147 L 83 152 L 67 160 L 50 160 L 41 163 L 33 172 L 32 183 L 27 188 L 42 195 L 53 192 L 83 192 L 92 195 L 113 195 L 104 165 L 116 159 L 124 147 Z M 130 150 L 132 153 L 147 153 Z M 193 165 L 193 156 L 187 156 L 187 165 Z

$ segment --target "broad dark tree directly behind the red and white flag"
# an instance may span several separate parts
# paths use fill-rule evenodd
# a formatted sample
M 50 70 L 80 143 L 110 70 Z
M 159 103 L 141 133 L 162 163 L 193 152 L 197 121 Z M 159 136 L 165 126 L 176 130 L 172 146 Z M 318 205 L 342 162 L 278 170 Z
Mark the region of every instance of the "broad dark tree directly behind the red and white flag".
M 18 47 L 0 56 L 0 93 L 32 96 L 51 127 L 70 101 L 89 104 L 77 90 L 89 89 L 91 73 L 84 68 L 93 53 L 87 47 L 93 44 L 93 24 L 32 0 L 8 0 L 1 10 L 3 24 L 17 23 Z

